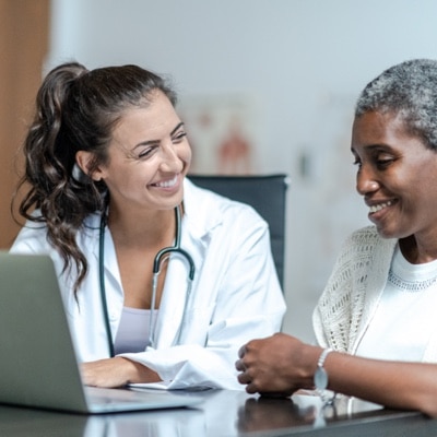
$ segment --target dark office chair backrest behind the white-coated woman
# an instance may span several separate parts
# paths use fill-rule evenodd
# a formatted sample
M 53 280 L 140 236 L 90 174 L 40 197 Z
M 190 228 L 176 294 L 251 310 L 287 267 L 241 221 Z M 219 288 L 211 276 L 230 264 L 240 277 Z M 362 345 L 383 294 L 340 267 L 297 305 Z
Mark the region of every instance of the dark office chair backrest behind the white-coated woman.
M 284 290 L 285 193 L 288 177 L 188 175 L 197 186 L 251 205 L 268 222 L 272 255 L 281 287 Z

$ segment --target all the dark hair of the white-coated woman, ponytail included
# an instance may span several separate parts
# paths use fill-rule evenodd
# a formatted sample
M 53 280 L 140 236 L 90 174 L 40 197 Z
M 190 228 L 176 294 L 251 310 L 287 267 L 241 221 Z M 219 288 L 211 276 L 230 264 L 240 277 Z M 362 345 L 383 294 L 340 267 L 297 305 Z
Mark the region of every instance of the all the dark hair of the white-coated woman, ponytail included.
M 75 175 L 75 154 L 92 152 L 90 174 L 107 164 L 111 132 L 123 111 L 147 106 L 157 90 L 176 105 L 176 93 L 167 82 L 138 66 L 88 71 L 78 62 L 68 62 L 52 69 L 37 93 L 36 114 L 23 145 L 25 172 L 16 192 L 26 192 L 19 212 L 47 226 L 48 241 L 61 255 L 64 270 L 75 265 L 74 293 L 87 272 L 76 233 L 84 218 L 103 213 L 108 201 L 103 181 Z M 35 210 L 40 213 L 35 214 Z

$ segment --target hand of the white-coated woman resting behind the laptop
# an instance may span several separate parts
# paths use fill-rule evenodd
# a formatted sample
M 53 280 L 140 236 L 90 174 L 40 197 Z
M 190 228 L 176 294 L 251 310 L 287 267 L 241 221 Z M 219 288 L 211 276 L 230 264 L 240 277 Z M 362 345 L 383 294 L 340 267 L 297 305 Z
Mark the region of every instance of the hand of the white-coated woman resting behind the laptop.
M 134 382 L 158 382 L 160 376 L 149 367 L 121 356 L 83 363 L 82 380 L 85 386 L 115 388 Z

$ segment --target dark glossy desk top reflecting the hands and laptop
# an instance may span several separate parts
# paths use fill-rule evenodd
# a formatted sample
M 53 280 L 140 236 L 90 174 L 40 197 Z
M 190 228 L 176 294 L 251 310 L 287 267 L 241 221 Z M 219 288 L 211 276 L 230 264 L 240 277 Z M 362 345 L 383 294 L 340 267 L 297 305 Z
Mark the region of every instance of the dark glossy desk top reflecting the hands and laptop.
M 211 390 L 196 408 L 79 415 L 0 406 L 1 437 L 260 437 L 436 436 L 437 421 L 416 412 L 385 410 L 340 398 L 321 410 L 318 397 L 267 399 L 244 391 Z M 320 413 L 320 414 L 319 414 Z

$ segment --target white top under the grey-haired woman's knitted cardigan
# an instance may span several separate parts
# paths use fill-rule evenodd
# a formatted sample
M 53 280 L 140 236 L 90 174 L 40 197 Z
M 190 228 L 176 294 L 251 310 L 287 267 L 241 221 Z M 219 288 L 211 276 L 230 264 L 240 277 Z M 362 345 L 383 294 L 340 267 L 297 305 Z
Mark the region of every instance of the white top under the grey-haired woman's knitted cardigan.
M 356 355 L 421 362 L 437 328 L 436 309 L 437 260 L 412 264 L 398 246 L 386 288 Z

